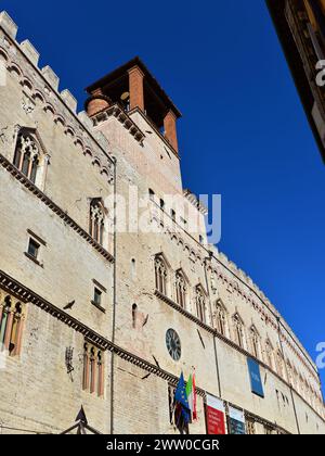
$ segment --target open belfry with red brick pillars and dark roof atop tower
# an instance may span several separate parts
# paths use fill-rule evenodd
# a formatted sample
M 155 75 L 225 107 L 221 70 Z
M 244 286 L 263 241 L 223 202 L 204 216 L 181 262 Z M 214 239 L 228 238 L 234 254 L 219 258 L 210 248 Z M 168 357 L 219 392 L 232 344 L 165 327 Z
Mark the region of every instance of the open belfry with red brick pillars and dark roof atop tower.
M 125 112 L 140 110 L 179 153 L 177 121 L 180 111 L 136 56 L 88 87 L 86 111 L 90 117 L 119 104 Z

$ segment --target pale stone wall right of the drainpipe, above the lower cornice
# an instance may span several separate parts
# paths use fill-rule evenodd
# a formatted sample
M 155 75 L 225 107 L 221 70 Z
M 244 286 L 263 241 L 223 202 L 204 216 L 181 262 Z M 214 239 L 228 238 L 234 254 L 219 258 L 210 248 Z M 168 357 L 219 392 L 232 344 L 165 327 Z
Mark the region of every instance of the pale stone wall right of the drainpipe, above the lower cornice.
M 148 126 L 144 125 L 143 116 L 139 113 L 136 115 L 141 129 L 146 131 Z M 157 197 L 157 205 L 153 204 L 155 206 L 153 214 L 159 213 L 159 198 L 164 198 L 166 193 L 178 192 L 182 195 L 182 189 L 176 189 L 173 186 L 173 182 L 180 176 L 179 166 L 160 167 L 161 157 L 154 154 L 154 151 L 165 147 L 162 140 L 157 136 L 148 136 L 152 143 L 154 140 L 157 142 L 155 145 L 152 143 L 148 145 L 146 139 L 140 145 L 125 131 L 123 126 L 114 118 L 99 124 L 96 128 L 107 136 L 117 157 L 118 194 L 127 195 L 129 185 L 136 186 L 140 195 L 145 195 L 148 189 L 153 189 Z M 122 142 L 120 142 L 121 137 L 123 137 Z M 150 165 L 152 161 L 159 163 L 157 165 L 159 172 L 153 173 Z M 160 170 L 164 170 L 164 173 L 160 173 Z M 166 207 L 166 212 L 168 211 L 169 207 Z M 153 221 L 153 224 L 156 224 L 155 228 L 157 228 L 158 219 L 159 216 Z M 250 414 L 263 417 L 266 421 L 276 422 L 278 427 L 288 432 L 298 432 L 291 392 L 287 384 L 286 368 L 283 366 L 283 379 L 276 371 L 275 354 L 276 351 L 282 350 L 277 324 L 280 315 L 276 309 L 252 281 L 217 250 L 213 250 L 213 258 L 205 262 L 209 256 L 209 249 L 200 245 L 197 239 L 186 233 L 185 230 L 177 227 L 176 236 L 173 232 L 169 232 L 167 227 L 160 226 L 159 229 L 160 232 L 158 230 L 158 233 L 136 232 L 117 236 L 117 281 L 119 283 L 117 291 L 117 343 L 150 363 L 157 359 L 164 370 L 168 370 L 174 376 L 179 376 L 181 370 L 187 376 L 195 367 L 198 384 L 204 390 L 217 396 L 221 395 L 222 398 L 242 406 Z M 188 280 L 186 305 L 188 313 L 196 315 L 194 288 L 199 283 L 207 292 L 208 325 L 214 325 L 213 306 L 217 301 L 221 300 L 226 308 L 227 339 L 231 343 L 218 338 L 216 340 L 221 394 L 218 387 L 216 353 L 211 332 L 188 319 L 187 316 L 176 312 L 173 307 L 155 295 L 154 258 L 160 252 L 164 253 L 168 263 L 170 275 L 168 296 L 172 301 L 176 301 L 174 273 L 182 268 Z M 132 259 L 135 261 L 135 271 L 133 270 L 133 273 Z M 145 326 L 142 327 L 140 324 L 135 329 L 132 329 L 133 304 L 138 305 L 140 320 L 146 320 Z M 232 316 L 236 313 L 238 313 L 245 326 L 244 352 L 238 351 L 233 343 L 235 337 Z M 252 325 L 260 337 L 260 360 L 263 365 L 268 364 L 264 350 L 266 339 L 271 341 L 273 346 L 274 362 L 271 369 L 266 365 L 261 367 L 262 379 L 265 381 L 264 400 L 253 395 L 250 391 L 247 356 L 251 356 L 252 353 L 249 339 L 249 329 Z M 182 341 L 182 358 L 179 363 L 171 359 L 166 349 L 165 334 L 169 328 L 173 328 Z M 317 403 L 318 413 L 323 413 L 320 382 L 314 364 L 301 349 L 299 341 L 283 319 L 281 319 L 281 333 L 284 337 L 282 337 L 282 344 L 285 359 L 289 359 L 303 379 L 308 379 L 313 393 L 307 392 L 306 401 L 312 407 Z M 199 331 L 205 346 L 203 346 L 197 331 Z M 290 341 L 299 356 L 287 345 L 286 340 Z M 314 395 L 317 395 L 316 401 Z M 295 406 L 296 402 L 299 403 L 300 405 L 297 405 L 297 407 L 309 410 L 313 417 L 309 423 L 301 425 L 301 431 L 316 432 L 317 430 L 317 432 L 324 432 L 324 421 L 312 411 L 307 402 L 300 396 L 299 400 L 297 397 L 297 394 L 294 393 Z M 299 419 L 302 418 L 301 414 L 299 416 L 298 413 Z M 156 426 L 160 425 L 157 422 Z M 258 425 L 257 429 L 259 429 Z

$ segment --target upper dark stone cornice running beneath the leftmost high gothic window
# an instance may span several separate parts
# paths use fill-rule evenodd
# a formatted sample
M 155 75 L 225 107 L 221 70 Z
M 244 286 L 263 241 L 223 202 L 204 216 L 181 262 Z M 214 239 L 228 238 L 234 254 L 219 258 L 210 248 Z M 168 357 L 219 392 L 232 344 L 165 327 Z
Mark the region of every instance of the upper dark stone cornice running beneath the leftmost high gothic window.
M 66 225 L 73 228 L 81 238 L 91 244 L 105 259 L 114 263 L 113 255 L 99 244 L 83 228 L 81 228 L 72 217 L 67 215 L 57 204 L 47 197 L 38 187 L 36 187 L 27 177 L 22 174 L 9 160 L 0 154 L 0 165 L 6 169 L 15 179 L 17 179 L 30 193 L 35 194 L 51 211 L 53 211 Z

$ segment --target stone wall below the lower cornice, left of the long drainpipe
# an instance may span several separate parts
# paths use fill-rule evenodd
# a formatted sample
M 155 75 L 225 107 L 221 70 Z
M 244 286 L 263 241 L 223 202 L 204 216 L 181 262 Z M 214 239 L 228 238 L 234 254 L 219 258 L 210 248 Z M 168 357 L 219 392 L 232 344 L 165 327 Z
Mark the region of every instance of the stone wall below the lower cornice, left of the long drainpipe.
M 105 400 L 82 391 L 83 343 L 82 334 L 32 304 L 27 306 L 22 355 L 8 357 L 6 368 L 0 370 L 0 417 L 5 428 L 57 434 L 74 423 L 83 405 L 89 422 L 109 432 L 109 382 Z M 74 349 L 70 375 L 65 364 L 66 349 Z M 106 355 L 107 378 L 110 356 Z

